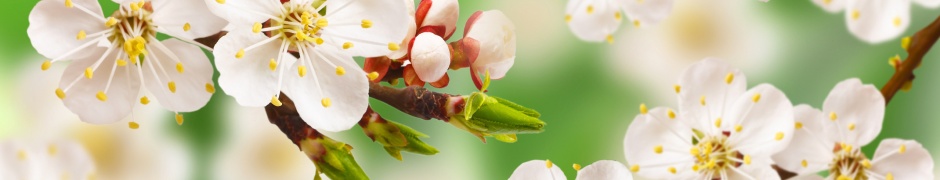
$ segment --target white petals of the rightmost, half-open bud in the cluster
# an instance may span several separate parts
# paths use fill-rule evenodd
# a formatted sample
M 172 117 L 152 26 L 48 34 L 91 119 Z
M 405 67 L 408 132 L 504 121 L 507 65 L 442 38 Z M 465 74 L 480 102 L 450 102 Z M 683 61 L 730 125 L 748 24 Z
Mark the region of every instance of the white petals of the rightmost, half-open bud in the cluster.
M 482 12 L 466 37 L 479 42 L 479 55 L 471 65 L 478 73 L 489 71 L 491 79 L 506 76 L 516 59 L 516 27 L 502 11 Z

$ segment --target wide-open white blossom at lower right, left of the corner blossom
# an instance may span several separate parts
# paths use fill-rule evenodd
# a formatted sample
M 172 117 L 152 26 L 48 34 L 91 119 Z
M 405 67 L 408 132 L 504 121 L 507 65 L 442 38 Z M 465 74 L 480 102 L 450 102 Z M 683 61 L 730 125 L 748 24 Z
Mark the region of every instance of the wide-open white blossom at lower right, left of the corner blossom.
M 779 179 L 771 155 L 793 135 L 793 105 L 773 85 L 705 59 L 675 86 L 679 111 L 640 106 L 624 139 L 630 170 L 654 179 Z M 690 138 L 691 137 L 691 138 Z

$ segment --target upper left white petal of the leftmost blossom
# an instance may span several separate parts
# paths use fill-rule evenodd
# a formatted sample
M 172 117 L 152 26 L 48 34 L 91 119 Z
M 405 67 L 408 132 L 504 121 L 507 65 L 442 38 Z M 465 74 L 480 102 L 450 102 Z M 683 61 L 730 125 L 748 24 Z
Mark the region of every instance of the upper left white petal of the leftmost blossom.
M 108 30 L 101 20 L 101 6 L 95 0 L 73 0 L 75 7 L 65 7 L 63 0 L 43 0 L 29 13 L 29 28 L 26 34 L 39 54 L 46 58 L 60 58 L 82 44 L 97 38 L 77 39 L 80 31 L 87 35 Z M 90 10 L 94 15 L 85 13 L 77 6 Z M 72 54 L 67 60 L 85 58 L 91 55 L 87 49 Z

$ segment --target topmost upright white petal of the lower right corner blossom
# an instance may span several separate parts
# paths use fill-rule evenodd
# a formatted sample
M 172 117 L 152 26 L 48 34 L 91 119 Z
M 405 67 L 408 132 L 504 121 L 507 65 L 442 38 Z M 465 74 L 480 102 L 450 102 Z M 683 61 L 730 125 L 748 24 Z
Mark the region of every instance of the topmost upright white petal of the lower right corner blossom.
M 836 120 L 832 123 L 831 115 Z M 836 84 L 826 101 L 823 102 L 823 116 L 830 120 L 828 124 L 838 124 L 838 129 L 831 129 L 841 134 L 842 142 L 862 147 L 870 143 L 881 132 L 885 114 L 885 99 L 875 86 L 862 85 L 856 78 Z M 850 126 L 855 126 L 850 130 Z

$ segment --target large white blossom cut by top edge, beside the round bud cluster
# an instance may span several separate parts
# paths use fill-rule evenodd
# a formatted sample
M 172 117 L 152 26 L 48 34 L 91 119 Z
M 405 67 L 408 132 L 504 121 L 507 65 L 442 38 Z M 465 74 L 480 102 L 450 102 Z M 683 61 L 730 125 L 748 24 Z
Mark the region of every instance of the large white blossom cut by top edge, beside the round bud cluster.
M 261 107 L 279 106 L 283 91 L 320 131 L 356 125 L 368 105 L 369 83 L 353 56 L 399 50 L 410 20 L 403 1 L 205 2 L 236 26 L 213 52 L 226 94 Z

